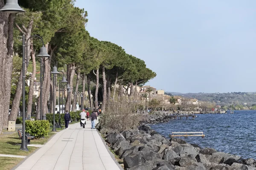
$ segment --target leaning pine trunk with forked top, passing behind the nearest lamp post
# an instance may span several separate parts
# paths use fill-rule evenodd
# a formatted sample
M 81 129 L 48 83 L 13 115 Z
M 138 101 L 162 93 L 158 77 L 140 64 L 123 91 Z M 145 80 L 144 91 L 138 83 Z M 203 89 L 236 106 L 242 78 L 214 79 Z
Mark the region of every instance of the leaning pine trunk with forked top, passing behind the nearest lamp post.
M 26 28 L 26 31 L 21 30 L 21 28 L 18 25 L 16 25 L 16 26 L 20 30 L 20 32 L 25 33 L 25 41 L 28 40 L 29 37 L 31 36 L 33 20 L 29 23 L 29 26 Z M 28 44 L 25 44 L 26 47 L 27 47 L 27 48 L 25 48 L 25 62 L 29 62 L 29 61 L 26 60 L 26 54 L 28 53 L 28 56 L 30 57 L 30 52 L 31 52 L 30 44 L 31 44 L 30 41 L 28 41 Z M 27 72 L 27 65 L 25 63 L 25 75 L 26 75 L 26 72 Z M 23 74 L 23 71 L 22 71 L 22 68 L 21 68 L 20 77 L 19 77 L 19 80 L 18 80 L 15 96 L 14 96 L 14 99 L 12 101 L 12 110 L 11 110 L 11 113 L 9 115 L 9 120 L 12 120 L 12 121 L 16 121 L 17 113 L 18 113 L 19 107 L 20 107 L 20 99 L 21 99 L 21 96 L 22 96 L 22 84 L 23 84 L 22 74 Z M 25 102 L 25 101 L 22 101 L 22 102 Z M 22 113 L 22 114 L 26 114 L 26 113 Z

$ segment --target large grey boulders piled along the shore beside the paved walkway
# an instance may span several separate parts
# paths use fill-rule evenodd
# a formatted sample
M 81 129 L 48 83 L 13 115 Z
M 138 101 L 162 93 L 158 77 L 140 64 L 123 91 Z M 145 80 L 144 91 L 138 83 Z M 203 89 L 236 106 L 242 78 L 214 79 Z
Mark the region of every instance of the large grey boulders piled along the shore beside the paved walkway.
M 256 160 L 201 148 L 181 139 L 166 139 L 147 125 L 105 134 L 125 170 L 256 170 Z

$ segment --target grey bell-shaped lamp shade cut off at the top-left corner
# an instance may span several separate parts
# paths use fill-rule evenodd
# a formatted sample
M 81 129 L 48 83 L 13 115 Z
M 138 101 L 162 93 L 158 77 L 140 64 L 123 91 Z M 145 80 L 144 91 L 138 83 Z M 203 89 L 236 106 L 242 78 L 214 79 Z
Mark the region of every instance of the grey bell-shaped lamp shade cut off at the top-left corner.
M 0 9 L 0 12 L 19 13 L 26 11 L 20 8 L 18 0 L 6 0 L 6 5 Z

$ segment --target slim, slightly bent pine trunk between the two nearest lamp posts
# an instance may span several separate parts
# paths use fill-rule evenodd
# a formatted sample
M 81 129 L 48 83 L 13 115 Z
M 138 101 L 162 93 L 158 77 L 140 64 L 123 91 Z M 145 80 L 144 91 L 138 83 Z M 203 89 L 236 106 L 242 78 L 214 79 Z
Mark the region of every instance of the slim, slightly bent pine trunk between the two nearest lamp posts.
M 34 80 L 35 80 L 35 74 L 36 74 L 36 62 L 35 62 L 35 53 L 33 48 L 33 41 L 31 41 L 31 57 L 32 57 L 32 65 L 33 65 L 33 71 L 30 78 L 30 85 L 29 85 L 29 98 L 28 98 L 28 106 L 27 106 L 27 113 L 26 118 L 31 118 L 32 114 L 32 104 L 33 104 L 33 93 L 34 93 Z

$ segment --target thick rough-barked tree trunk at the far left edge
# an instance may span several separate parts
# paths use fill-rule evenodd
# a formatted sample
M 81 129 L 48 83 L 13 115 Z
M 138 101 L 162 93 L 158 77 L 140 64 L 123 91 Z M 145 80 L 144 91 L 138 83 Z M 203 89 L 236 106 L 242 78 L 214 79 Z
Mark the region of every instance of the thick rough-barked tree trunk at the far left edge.
M 0 0 L 0 8 L 4 1 Z M 0 13 L 0 134 L 8 127 L 12 84 L 14 14 Z

